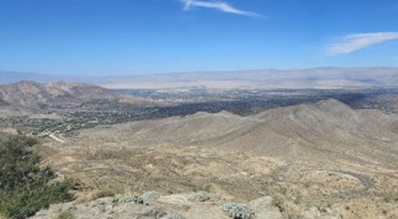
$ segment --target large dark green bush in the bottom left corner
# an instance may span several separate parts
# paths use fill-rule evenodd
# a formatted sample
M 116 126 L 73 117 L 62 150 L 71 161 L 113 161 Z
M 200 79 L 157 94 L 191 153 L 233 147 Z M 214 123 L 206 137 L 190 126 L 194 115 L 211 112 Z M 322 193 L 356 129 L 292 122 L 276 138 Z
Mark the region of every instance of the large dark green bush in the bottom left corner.
M 52 203 L 71 199 L 69 182 L 50 181 L 54 172 L 40 168 L 31 147 L 35 139 L 13 136 L 0 141 L 0 217 L 24 219 Z

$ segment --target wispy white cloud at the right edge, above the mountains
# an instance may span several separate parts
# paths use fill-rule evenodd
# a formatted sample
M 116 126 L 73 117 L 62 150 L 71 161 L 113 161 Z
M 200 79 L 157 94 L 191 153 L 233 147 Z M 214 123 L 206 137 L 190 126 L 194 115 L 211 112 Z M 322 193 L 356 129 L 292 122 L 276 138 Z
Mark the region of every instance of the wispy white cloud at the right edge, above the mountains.
M 350 34 L 343 37 L 340 42 L 329 45 L 327 52 L 329 55 L 349 54 L 377 43 L 395 39 L 398 39 L 398 32 Z

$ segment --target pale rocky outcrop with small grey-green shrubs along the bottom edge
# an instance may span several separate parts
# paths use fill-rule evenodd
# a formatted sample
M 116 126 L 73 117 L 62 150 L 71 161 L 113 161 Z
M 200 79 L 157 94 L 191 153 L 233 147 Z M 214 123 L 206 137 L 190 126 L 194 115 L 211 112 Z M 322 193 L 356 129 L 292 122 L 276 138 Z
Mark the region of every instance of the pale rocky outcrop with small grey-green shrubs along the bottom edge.
M 151 193 L 153 195 L 153 193 Z M 152 196 L 150 195 L 150 196 Z M 148 196 L 144 194 L 143 197 Z M 199 194 L 203 196 L 203 193 Z M 75 219 L 283 219 L 271 197 L 248 204 L 225 203 L 222 197 L 209 194 L 209 199 L 196 198 L 197 193 L 162 196 L 145 200 L 137 195 L 97 199 L 88 203 L 66 203 L 51 206 L 31 219 L 53 219 L 61 214 Z

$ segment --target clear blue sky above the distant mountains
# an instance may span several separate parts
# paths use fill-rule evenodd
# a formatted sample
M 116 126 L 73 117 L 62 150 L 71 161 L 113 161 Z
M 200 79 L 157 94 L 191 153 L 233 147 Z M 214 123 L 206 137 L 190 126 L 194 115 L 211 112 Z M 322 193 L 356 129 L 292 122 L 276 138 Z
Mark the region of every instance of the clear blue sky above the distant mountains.
M 0 0 L 0 70 L 398 66 L 397 0 Z

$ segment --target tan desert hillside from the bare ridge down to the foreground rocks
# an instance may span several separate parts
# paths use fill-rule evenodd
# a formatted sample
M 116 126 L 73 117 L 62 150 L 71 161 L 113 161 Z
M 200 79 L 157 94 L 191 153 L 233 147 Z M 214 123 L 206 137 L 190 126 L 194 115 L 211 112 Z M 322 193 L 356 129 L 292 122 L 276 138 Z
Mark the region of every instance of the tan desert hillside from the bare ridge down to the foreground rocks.
M 197 212 L 208 210 L 216 219 L 228 218 L 224 204 L 241 203 L 264 219 L 394 219 L 397 121 L 393 114 L 325 100 L 246 117 L 196 113 L 81 130 L 63 143 L 47 139 L 36 147 L 43 164 L 84 188 L 69 207 L 38 215 L 75 209 L 77 218 L 88 212 L 119 217 L 130 209 L 135 217 L 152 212 L 148 218 L 156 218 L 153 209 L 162 209 L 200 218 Z M 160 198 L 149 208 L 97 200 L 151 191 Z M 204 205 L 190 201 L 196 191 L 213 198 Z M 269 207 L 261 213 L 253 202 L 264 199 Z

